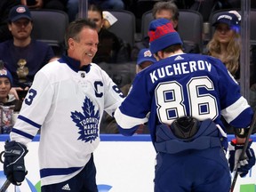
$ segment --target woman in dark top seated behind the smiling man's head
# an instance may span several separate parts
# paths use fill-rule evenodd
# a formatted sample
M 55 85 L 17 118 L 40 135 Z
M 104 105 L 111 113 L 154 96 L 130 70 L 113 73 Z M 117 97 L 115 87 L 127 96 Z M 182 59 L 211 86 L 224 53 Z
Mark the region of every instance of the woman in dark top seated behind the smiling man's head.
M 129 46 L 104 27 L 103 11 L 96 4 L 89 4 L 88 18 L 97 25 L 99 34 L 98 52 L 92 62 L 121 63 L 130 60 Z

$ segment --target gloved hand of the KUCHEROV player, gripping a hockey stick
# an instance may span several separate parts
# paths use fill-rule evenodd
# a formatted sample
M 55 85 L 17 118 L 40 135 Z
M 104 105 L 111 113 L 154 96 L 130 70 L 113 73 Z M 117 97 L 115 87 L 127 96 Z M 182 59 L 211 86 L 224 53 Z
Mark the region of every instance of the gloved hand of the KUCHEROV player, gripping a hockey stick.
M 248 147 L 246 148 L 244 153 L 244 159 L 242 160 L 239 160 L 239 157 L 241 156 L 244 145 L 237 144 L 235 139 L 231 140 L 228 146 L 228 163 L 230 171 L 234 172 L 237 169 L 237 173 L 240 175 L 240 177 L 244 177 L 255 164 L 255 155 L 253 149 L 250 148 L 251 145 L 252 140 L 249 141 Z

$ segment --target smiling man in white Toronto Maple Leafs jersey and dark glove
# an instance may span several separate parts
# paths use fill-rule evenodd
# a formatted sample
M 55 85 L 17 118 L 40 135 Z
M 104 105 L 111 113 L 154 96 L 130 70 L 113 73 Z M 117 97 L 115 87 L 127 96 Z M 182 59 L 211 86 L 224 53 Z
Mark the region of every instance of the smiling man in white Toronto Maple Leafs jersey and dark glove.
M 26 145 L 40 130 L 42 192 L 96 192 L 92 153 L 100 142 L 105 110 L 113 115 L 124 95 L 92 58 L 99 44 L 96 26 L 75 20 L 65 36 L 68 56 L 47 64 L 35 77 L 5 143 L 4 174 L 20 185 L 27 171 Z

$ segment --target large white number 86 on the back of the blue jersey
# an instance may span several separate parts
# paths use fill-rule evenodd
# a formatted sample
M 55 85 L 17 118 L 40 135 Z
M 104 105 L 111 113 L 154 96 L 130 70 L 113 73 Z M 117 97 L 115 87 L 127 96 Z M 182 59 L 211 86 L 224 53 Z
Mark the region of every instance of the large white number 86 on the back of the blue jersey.
M 161 123 L 172 124 L 181 116 L 194 116 L 198 120 L 215 119 L 218 116 L 217 100 L 210 93 L 199 92 L 202 88 L 214 91 L 212 80 L 207 76 L 191 78 L 185 85 L 177 81 L 158 84 L 155 92 L 157 116 Z M 185 102 L 188 103 L 187 109 Z

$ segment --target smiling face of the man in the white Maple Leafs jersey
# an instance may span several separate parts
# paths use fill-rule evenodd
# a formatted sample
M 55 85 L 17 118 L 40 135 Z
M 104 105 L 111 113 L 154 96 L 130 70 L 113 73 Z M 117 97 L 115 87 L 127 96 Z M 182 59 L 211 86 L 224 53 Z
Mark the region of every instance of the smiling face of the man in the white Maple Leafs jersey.
M 79 60 L 81 67 L 89 65 L 98 51 L 98 44 L 97 30 L 84 27 L 76 37 L 68 39 L 68 56 Z

